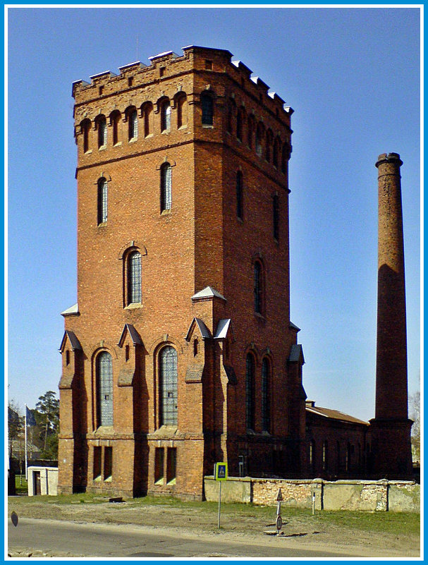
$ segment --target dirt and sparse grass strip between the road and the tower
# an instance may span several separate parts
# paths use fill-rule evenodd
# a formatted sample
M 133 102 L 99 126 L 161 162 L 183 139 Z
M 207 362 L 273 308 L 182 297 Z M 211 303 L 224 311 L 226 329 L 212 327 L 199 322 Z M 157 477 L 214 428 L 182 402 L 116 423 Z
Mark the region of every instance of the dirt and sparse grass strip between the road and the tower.
M 267 545 L 280 542 L 279 537 L 267 533 L 276 532 L 276 509 L 260 510 L 249 508 L 236 511 L 224 505 L 221 513 L 221 530 L 217 528 L 216 511 L 207 511 L 201 507 L 171 506 L 164 504 L 138 505 L 129 502 L 101 502 L 99 504 L 80 503 L 58 504 L 52 502 L 34 502 L 31 504 L 9 499 L 8 519 L 12 511 L 20 517 L 44 518 L 75 521 L 80 523 L 131 523 L 142 525 L 159 533 L 167 531 L 186 537 L 206 537 L 212 540 L 220 533 L 229 540 L 247 540 L 249 544 Z M 283 511 L 281 539 L 286 539 L 288 547 L 301 549 L 325 549 L 367 557 L 420 557 L 420 536 L 415 533 L 378 533 L 353 527 L 358 520 L 350 514 L 349 525 L 338 525 L 326 521 L 322 516 Z M 10 548 L 11 557 L 81 557 L 70 554 L 49 556 L 41 552 L 32 552 L 30 548 Z M 14 553 L 13 553 L 14 552 Z M 213 556 L 214 557 L 214 556 Z

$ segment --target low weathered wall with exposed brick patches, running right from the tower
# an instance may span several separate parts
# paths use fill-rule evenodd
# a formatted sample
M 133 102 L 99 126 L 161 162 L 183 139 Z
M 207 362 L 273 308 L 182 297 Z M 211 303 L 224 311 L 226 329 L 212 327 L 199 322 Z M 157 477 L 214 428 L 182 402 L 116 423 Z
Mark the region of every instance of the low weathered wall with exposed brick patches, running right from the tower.
M 360 510 L 420 513 L 420 485 L 398 480 L 284 480 L 230 477 L 221 485 L 222 502 L 274 506 L 281 488 L 283 506 L 317 510 Z M 219 499 L 219 482 L 204 477 L 205 498 Z

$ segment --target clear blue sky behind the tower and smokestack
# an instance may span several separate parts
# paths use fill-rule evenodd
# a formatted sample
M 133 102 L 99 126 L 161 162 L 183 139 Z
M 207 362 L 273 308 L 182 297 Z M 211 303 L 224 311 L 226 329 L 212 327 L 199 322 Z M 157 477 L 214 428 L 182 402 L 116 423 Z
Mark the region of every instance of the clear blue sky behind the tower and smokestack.
M 76 302 L 74 80 L 189 44 L 228 49 L 293 114 L 291 319 L 318 406 L 374 417 L 377 169 L 403 159 L 410 393 L 420 388 L 418 8 L 10 8 L 8 383 L 58 390 Z

